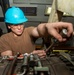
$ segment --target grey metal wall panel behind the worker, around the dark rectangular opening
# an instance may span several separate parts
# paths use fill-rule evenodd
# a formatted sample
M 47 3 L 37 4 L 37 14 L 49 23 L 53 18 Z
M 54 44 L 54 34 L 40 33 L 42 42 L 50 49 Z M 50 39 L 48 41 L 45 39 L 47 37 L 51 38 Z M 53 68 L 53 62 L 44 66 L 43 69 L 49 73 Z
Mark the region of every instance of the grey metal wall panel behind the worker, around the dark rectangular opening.
M 28 22 L 47 22 L 48 17 L 45 15 L 46 7 L 51 6 L 53 0 L 9 0 L 10 6 L 18 6 L 23 9 L 26 7 L 35 7 L 36 15 L 26 15 Z M 24 13 L 26 12 L 23 10 Z M 29 10 L 30 11 L 30 10 Z

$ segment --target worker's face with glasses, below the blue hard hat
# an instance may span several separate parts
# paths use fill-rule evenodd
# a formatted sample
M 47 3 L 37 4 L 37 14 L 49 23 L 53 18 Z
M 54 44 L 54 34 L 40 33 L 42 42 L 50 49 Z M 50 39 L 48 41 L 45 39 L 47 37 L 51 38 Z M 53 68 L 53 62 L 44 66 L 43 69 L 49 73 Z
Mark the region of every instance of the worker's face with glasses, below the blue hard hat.
M 23 33 L 24 24 L 9 25 L 8 28 L 12 30 L 14 36 L 20 36 Z

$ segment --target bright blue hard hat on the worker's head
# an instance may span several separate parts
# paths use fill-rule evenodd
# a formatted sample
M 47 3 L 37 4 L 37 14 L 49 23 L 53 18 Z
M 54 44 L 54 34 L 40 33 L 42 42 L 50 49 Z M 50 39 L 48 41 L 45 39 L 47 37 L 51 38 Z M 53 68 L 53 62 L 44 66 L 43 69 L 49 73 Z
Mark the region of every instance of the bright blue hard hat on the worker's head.
M 28 21 L 23 11 L 18 7 L 11 7 L 5 13 L 5 22 L 10 24 L 20 24 Z

